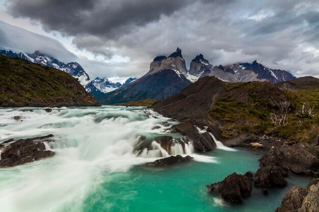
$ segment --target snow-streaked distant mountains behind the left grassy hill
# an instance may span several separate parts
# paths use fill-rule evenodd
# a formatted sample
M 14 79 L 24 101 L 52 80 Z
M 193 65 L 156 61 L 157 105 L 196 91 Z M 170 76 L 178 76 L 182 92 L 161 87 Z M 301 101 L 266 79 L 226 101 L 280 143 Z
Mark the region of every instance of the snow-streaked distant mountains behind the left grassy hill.
M 115 90 L 121 86 L 128 84 L 131 81 L 136 80 L 136 78 L 128 78 L 123 84 L 119 82 L 114 83 L 107 78 L 100 78 L 100 77 L 96 77 L 95 79 L 90 80 L 89 75 L 78 63 L 71 62 L 71 63 L 65 64 L 54 57 L 41 53 L 40 51 L 36 51 L 32 54 L 27 54 L 27 53 L 23 53 L 19 51 L 0 49 L 0 54 L 12 56 L 12 57 L 20 57 L 32 63 L 37 63 L 42 66 L 48 66 L 48 67 L 60 69 L 70 74 L 71 76 L 75 77 L 79 81 L 79 83 L 81 83 L 83 87 L 86 88 L 87 92 L 89 93 L 92 93 L 92 92 L 108 93 L 108 92 L 111 92 L 112 90 Z

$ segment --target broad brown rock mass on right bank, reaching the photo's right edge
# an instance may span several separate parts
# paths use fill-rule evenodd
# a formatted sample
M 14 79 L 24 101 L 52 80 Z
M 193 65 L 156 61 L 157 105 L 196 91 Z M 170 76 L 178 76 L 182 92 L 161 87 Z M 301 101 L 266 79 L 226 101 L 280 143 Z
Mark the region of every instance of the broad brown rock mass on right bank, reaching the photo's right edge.
M 283 144 L 272 148 L 260 161 L 260 166 L 275 164 L 278 167 L 295 174 L 319 176 L 319 146 L 308 143 L 294 145 Z

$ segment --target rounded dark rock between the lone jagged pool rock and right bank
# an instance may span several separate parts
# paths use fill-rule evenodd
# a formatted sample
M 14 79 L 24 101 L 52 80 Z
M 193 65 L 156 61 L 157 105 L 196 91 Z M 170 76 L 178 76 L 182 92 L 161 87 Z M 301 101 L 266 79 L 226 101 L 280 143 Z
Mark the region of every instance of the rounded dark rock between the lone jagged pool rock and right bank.
M 255 186 L 264 189 L 271 187 L 283 188 L 287 186 L 285 176 L 288 176 L 287 172 L 275 164 L 262 166 L 255 174 Z

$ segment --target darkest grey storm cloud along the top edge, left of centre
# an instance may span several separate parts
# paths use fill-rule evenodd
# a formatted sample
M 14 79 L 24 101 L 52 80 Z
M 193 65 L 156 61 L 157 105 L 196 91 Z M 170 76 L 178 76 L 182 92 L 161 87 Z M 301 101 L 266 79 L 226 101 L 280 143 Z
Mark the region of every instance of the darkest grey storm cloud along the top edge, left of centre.
M 187 6 L 190 0 L 13 0 L 11 14 L 40 21 L 67 35 L 102 35 L 115 39 L 134 27 Z

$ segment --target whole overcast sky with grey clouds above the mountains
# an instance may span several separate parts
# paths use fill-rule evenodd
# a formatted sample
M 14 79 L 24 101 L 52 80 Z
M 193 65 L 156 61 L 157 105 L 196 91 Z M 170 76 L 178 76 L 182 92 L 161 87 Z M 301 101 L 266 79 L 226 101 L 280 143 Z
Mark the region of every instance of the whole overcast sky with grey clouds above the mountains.
M 319 1 L 0 0 L 0 47 L 122 82 L 177 47 L 187 66 L 257 62 L 319 77 Z

